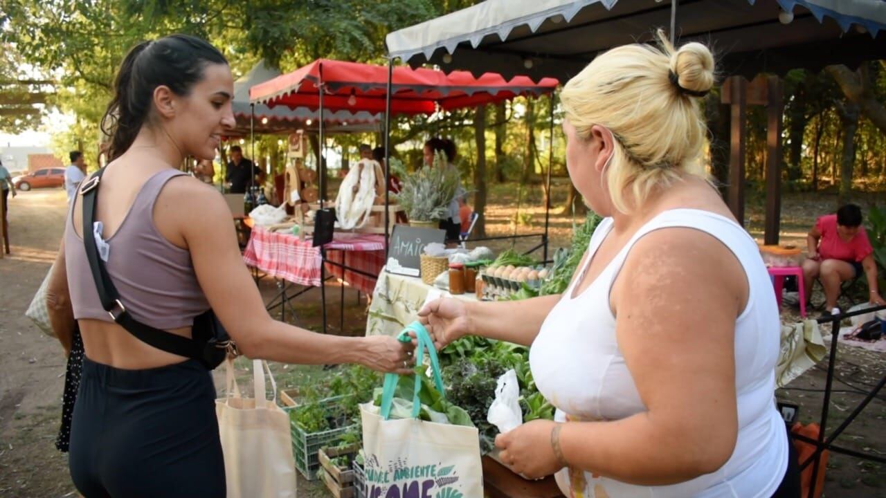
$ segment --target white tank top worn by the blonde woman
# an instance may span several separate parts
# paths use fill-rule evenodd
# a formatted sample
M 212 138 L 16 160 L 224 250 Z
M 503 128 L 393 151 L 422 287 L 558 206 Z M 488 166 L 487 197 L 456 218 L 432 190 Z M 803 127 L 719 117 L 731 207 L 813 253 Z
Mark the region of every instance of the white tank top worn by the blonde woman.
M 781 324 L 772 282 L 756 242 L 737 223 L 719 214 L 696 209 L 658 214 L 572 299 L 581 280 L 577 278 L 563 292 L 532 343 L 532 377 L 540 393 L 556 407 L 556 420 L 561 422 L 618 420 L 646 411 L 618 347 L 610 289 L 636 241 L 652 230 L 672 227 L 702 230 L 718 238 L 741 262 L 748 277 L 748 305 L 735 320 L 738 438 L 733 455 L 718 471 L 670 486 L 634 486 L 591 472 L 563 469 L 557 482 L 571 498 L 768 498 L 787 469 L 788 439 L 774 402 Z M 600 222 L 581 272 L 611 229 L 610 218 Z M 702 324 L 698 333 L 703 333 Z

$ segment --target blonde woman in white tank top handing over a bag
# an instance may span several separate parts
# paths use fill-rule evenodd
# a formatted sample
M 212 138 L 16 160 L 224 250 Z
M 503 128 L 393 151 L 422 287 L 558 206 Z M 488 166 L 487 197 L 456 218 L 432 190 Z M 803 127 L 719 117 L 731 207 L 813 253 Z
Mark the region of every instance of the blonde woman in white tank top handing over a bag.
M 703 172 L 698 98 L 714 61 L 659 38 L 602 54 L 563 88 L 570 177 L 605 216 L 567 291 L 436 300 L 421 315 L 438 346 L 467 334 L 532 346 L 556 422 L 496 445 L 529 477 L 557 472 L 568 496 L 798 496 L 773 398 L 772 284 Z

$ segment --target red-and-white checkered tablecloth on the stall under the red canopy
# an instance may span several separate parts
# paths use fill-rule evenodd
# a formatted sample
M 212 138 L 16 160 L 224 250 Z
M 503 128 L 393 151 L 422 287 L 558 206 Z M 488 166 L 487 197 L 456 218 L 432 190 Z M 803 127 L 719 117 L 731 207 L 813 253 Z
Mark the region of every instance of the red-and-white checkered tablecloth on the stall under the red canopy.
M 342 263 L 372 275 L 378 275 L 385 264 L 385 237 L 375 234 L 336 234 L 326 245 L 329 261 Z M 259 268 L 270 276 L 300 285 L 319 286 L 320 248 L 310 239 L 276 233 L 261 227 L 253 229 L 249 244 L 243 253 L 247 265 Z M 338 278 L 343 268 L 327 264 L 326 270 Z M 345 270 L 346 283 L 368 294 L 375 289 L 376 279 Z

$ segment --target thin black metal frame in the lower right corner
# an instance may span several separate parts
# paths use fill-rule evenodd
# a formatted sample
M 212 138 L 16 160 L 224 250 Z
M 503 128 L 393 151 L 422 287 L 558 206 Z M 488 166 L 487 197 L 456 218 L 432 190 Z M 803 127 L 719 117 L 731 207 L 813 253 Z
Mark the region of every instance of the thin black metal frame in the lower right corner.
M 868 403 L 874 400 L 878 393 L 882 390 L 883 386 L 886 385 L 886 375 L 881 377 L 880 381 L 875 385 L 871 391 L 869 391 L 865 395 L 865 399 L 862 400 L 855 409 L 843 420 L 843 423 L 840 424 L 834 432 L 831 432 L 827 435 L 828 431 L 828 412 L 830 409 L 830 397 L 834 386 L 834 369 L 836 362 L 836 346 L 838 342 L 838 338 L 840 336 L 840 322 L 845 318 L 851 318 L 852 316 L 865 315 L 867 313 L 877 312 L 886 310 L 886 306 L 880 307 L 868 307 L 863 310 L 855 311 L 852 313 L 844 313 L 841 315 L 834 315 L 830 318 L 820 318 L 818 322 L 820 324 L 831 323 L 831 346 L 830 346 L 830 354 L 828 356 L 828 377 L 826 377 L 825 381 L 825 391 L 824 391 L 824 400 L 821 405 L 821 416 L 819 419 L 819 437 L 818 440 L 812 440 L 810 438 L 806 438 L 804 436 L 800 436 L 798 434 L 791 434 L 791 437 L 796 440 L 804 441 L 805 443 L 809 443 L 815 446 L 815 451 L 812 455 L 809 456 L 804 462 L 800 463 L 800 471 L 804 471 L 806 467 L 814 462 L 814 466 L 812 467 L 812 486 L 809 488 L 809 498 L 814 498 L 816 494 L 816 484 L 819 474 L 819 464 L 821 461 L 821 452 L 824 450 L 833 451 L 834 453 L 841 453 L 843 455 L 850 455 L 861 460 L 867 460 L 870 462 L 877 463 L 886 463 L 886 458 L 882 456 L 873 455 L 871 453 L 862 453 L 858 451 L 854 451 L 851 449 L 843 448 L 835 446 L 834 441 L 840 436 L 840 434 L 845 431 L 847 427 L 861 414 L 861 412 L 867 407 Z

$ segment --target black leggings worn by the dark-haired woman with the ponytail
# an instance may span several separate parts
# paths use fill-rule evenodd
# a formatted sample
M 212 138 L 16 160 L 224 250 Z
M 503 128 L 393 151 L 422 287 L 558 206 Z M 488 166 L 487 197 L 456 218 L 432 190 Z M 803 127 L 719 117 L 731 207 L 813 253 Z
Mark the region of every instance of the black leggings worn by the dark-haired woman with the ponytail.
M 84 357 L 68 465 L 85 498 L 224 498 L 209 372 L 194 360 L 121 370 Z

